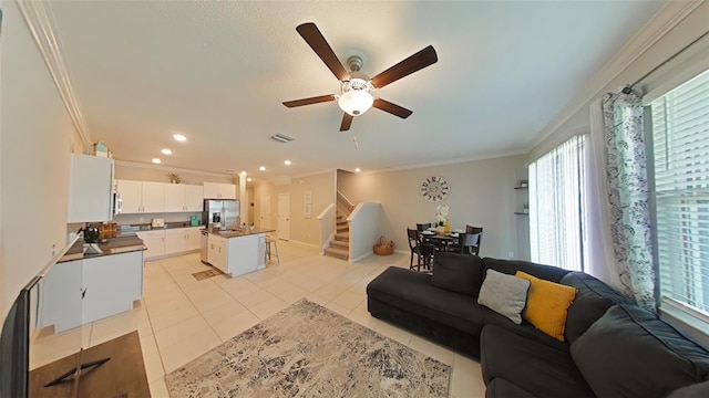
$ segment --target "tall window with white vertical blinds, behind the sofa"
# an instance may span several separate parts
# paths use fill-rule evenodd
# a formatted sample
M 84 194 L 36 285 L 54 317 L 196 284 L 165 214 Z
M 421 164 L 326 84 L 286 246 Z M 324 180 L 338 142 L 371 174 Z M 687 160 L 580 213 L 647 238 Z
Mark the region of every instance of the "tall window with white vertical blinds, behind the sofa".
M 533 161 L 530 172 L 532 261 L 571 271 L 583 265 L 585 136 L 575 136 Z

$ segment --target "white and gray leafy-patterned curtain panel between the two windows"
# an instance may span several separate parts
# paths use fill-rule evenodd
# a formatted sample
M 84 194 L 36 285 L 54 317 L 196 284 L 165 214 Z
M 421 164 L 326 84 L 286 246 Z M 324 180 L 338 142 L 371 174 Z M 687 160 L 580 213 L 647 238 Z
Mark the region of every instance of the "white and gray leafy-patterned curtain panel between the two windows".
M 602 103 L 616 271 L 624 293 L 635 297 L 639 305 L 655 310 L 641 94 L 626 88 L 606 94 Z

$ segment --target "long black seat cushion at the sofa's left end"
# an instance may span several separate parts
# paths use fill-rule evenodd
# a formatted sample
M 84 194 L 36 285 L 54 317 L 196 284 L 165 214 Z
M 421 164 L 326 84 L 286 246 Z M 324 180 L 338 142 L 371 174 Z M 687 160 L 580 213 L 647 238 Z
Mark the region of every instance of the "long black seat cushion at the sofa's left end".
M 367 285 L 367 295 L 402 311 L 480 336 L 482 306 L 475 297 L 431 284 L 431 275 L 390 266 Z

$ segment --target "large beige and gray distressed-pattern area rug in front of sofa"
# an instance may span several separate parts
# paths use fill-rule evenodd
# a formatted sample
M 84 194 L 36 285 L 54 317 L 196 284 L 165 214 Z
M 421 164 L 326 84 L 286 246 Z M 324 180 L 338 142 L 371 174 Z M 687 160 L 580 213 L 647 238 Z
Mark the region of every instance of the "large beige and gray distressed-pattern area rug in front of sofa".
M 301 300 L 165 376 L 179 397 L 448 397 L 451 367 Z

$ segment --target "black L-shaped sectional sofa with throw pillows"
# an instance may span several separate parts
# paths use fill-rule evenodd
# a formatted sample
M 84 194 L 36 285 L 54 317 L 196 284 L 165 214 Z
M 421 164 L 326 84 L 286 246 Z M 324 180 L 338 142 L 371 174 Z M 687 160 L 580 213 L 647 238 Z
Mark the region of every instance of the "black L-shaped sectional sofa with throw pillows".
M 538 279 L 525 293 L 547 282 L 575 291 L 556 337 L 527 322 L 531 295 L 520 324 L 479 304 L 500 295 L 503 306 L 514 304 L 504 297 L 514 289 L 493 280 L 524 285 L 524 277 L 512 276 L 523 273 Z M 372 316 L 479 359 L 486 397 L 709 397 L 706 347 L 582 272 L 441 253 L 432 275 L 391 266 L 367 295 Z

